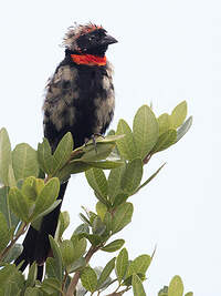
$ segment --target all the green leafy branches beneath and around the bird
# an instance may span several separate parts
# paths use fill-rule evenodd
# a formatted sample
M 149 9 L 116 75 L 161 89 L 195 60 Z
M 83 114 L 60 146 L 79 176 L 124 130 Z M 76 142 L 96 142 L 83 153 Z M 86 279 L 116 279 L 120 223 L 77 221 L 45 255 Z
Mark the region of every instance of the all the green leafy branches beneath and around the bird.
M 64 135 L 52 153 L 46 139 L 35 151 L 21 143 L 11 149 L 6 129 L 0 130 L 0 295 L 18 296 L 83 296 L 112 289 L 120 296 L 131 289 L 134 295 L 146 295 L 146 280 L 152 256 L 141 254 L 129 258 L 122 232 L 133 218 L 134 204 L 128 198 L 146 186 L 162 169 L 143 180 L 144 166 L 156 153 L 176 144 L 191 126 L 187 121 L 187 103 L 181 102 L 171 114 L 156 118 L 148 105 L 143 105 L 134 118 L 133 129 L 119 120 L 117 130 L 103 139 L 74 149 L 71 133 Z M 109 170 L 106 173 L 104 170 Z M 60 184 L 71 174 L 85 172 L 88 185 L 97 200 L 96 211 L 80 216 L 83 221 L 69 239 L 63 233 L 70 224 L 67 212 L 60 214 L 55 237 L 50 236 L 53 257 L 46 259 L 43 282 L 36 280 L 36 264 L 27 276 L 12 263 L 21 254 L 18 238 L 31 224 L 36 229 L 41 218 L 60 201 Z M 136 206 L 136 205 L 135 205 Z M 90 259 L 97 252 L 118 252 L 104 268 L 92 267 Z M 183 285 L 175 276 L 159 296 L 182 296 Z M 186 294 L 190 296 L 192 293 Z

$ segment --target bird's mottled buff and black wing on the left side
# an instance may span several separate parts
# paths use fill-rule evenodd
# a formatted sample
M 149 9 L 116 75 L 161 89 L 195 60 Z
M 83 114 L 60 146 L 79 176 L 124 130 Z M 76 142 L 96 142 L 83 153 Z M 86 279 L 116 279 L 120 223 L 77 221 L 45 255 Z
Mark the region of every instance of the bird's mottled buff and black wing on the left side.
M 61 140 L 61 131 L 65 126 L 74 124 L 75 108 L 73 100 L 78 98 L 76 79 L 76 69 L 70 65 L 60 65 L 46 85 L 43 104 L 44 135 L 53 146 Z

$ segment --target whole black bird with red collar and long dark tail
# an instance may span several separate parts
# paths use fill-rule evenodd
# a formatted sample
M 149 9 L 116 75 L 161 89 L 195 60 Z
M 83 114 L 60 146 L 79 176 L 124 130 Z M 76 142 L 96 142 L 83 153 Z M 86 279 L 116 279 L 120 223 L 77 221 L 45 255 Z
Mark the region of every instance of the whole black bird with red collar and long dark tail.
M 44 137 L 52 153 L 61 139 L 71 132 L 74 147 L 93 135 L 104 135 L 114 116 L 115 91 L 113 67 L 105 53 L 117 40 L 102 27 L 88 22 L 70 27 L 63 39 L 65 57 L 50 78 L 43 103 Z M 69 181 L 60 186 L 63 201 Z M 15 259 L 23 272 L 36 262 L 39 280 L 50 256 L 49 235 L 54 236 L 62 202 L 41 222 L 39 231 L 31 225 L 23 241 L 23 251 Z

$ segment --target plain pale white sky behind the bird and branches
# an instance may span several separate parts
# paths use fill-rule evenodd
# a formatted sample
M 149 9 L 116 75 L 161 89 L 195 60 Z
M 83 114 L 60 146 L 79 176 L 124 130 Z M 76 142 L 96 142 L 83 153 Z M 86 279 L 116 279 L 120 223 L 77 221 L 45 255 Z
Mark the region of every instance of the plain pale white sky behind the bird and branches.
M 63 59 L 62 38 L 74 21 L 103 24 L 119 42 L 107 57 L 115 65 L 116 112 L 131 123 L 136 110 L 154 104 L 170 112 L 188 101 L 193 126 L 177 145 L 145 167 L 150 175 L 166 167 L 131 198 L 133 223 L 125 238 L 130 258 L 157 253 L 145 282 L 147 295 L 179 274 L 186 292 L 220 295 L 221 196 L 221 7 L 219 1 L 3 1 L 1 27 L 0 126 L 13 146 L 42 140 L 43 89 Z M 94 210 L 95 197 L 82 174 L 72 178 L 63 210 L 72 229 L 81 205 Z M 106 256 L 106 257 L 105 257 Z M 114 254 L 112 254 L 114 256 Z M 110 256 L 97 255 L 92 266 Z M 128 294 L 129 295 L 129 294 Z

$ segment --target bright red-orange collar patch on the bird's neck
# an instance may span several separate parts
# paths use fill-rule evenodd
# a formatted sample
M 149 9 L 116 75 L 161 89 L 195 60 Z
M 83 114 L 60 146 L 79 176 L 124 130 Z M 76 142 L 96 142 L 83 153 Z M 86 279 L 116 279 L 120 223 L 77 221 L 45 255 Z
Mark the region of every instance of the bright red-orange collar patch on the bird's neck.
M 96 57 L 93 54 L 71 54 L 72 61 L 76 64 L 87 64 L 87 65 L 106 65 L 106 57 Z

